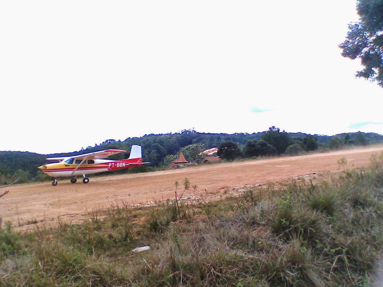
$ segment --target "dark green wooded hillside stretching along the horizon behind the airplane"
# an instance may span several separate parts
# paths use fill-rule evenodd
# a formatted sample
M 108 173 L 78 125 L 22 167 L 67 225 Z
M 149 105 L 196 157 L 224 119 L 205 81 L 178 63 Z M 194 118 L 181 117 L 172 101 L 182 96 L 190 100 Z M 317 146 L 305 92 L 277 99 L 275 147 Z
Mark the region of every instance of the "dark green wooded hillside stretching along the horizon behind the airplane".
M 265 134 L 267 134 L 267 132 L 268 131 L 257 132 L 252 134 L 212 134 L 196 132 L 195 130 L 183 130 L 178 133 L 149 134 L 144 135 L 142 137 L 127 138 L 124 141 L 108 139 L 105 140 L 105 142 L 100 143 L 100 145 L 95 145 L 94 147 L 87 147 L 85 149 L 82 148 L 81 150 L 74 151 L 71 153 L 54 153 L 41 155 L 38 153 L 31 152 L 2 151 L 0 152 L 0 176 L 3 176 L 3 178 L 1 179 L 2 181 L 4 181 L 4 178 L 11 178 L 15 173 L 19 173 L 18 176 L 21 175 L 29 179 L 33 179 L 36 178 L 36 176 L 38 175 L 37 166 L 43 165 L 47 162 L 45 160 L 46 157 L 71 156 L 79 153 L 89 153 L 95 152 L 97 150 L 105 150 L 108 148 L 118 148 L 127 150 L 127 153 L 120 153 L 111 157 L 111 159 L 127 158 L 129 156 L 130 148 L 132 145 L 141 145 L 144 160 L 151 162 L 150 166 L 142 167 L 138 170 L 151 170 L 154 167 L 167 165 L 167 159 L 169 158 L 167 157 L 168 155 L 176 155 L 177 153 L 182 151 L 185 154 L 187 160 L 195 161 L 196 158 L 193 157 L 198 155 L 198 153 L 201 150 L 205 148 L 219 147 L 219 145 L 223 142 L 236 143 L 239 149 L 244 148 L 249 140 L 260 141 L 264 139 L 266 142 L 273 145 L 273 143 L 269 142 L 267 140 L 267 137 L 265 137 Z M 304 137 L 308 136 L 307 134 L 300 132 L 281 132 L 281 134 L 282 133 L 288 138 L 289 144 L 298 143 L 300 145 L 304 145 L 303 139 Z M 359 140 L 360 138 L 362 138 L 363 140 L 362 142 L 357 143 L 357 145 L 383 142 L 383 136 L 375 133 L 350 133 L 339 134 L 336 136 L 313 135 L 313 137 L 316 138 L 316 141 L 318 142 L 317 146 L 322 148 L 329 148 L 329 144 L 332 148 L 339 148 L 340 146 L 347 144 L 347 140 L 349 143 L 357 143 L 358 138 Z M 335 143 L 335 145 L 331 146 L 331 139 L 333 139 L 333 143 Z M 243 153 L 242 156 L 243 155 L 245 154 Z M 25 173 L 23 174 L 22 172 Z M 3 184 L 3 182 L 1 182 L 1 184 Z

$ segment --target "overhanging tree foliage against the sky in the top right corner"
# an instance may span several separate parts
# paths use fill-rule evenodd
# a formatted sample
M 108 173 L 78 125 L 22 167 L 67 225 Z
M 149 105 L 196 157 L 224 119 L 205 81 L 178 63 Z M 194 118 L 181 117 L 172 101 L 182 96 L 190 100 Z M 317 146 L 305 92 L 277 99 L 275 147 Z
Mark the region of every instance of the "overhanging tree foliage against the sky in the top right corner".
M 356 77 L 377 81 L 383 87 L 383 0 L 357 0 L 359 21 L 349 24 L 342 56 L 359 58 L 364 67 Z

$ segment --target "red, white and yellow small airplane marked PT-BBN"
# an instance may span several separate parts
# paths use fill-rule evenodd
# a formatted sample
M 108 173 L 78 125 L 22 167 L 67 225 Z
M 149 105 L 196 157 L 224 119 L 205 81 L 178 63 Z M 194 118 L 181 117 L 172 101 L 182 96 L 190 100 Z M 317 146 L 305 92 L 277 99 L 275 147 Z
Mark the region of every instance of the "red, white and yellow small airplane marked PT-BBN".
M 121 170 L 134 166 L 144 165 L 150 162 L 142 162 L 141 146 L 132 145 L 129 158 L 126 160 L 105 160 L 104 158 L 126 150 L 101 150 L 99 152 L 85 153 L 73 157 L 51 157 L 47 160 L 58 160 L 58 163 L 49 163 L 38 168 L 49 176 L 54 177 L 53 186 L 57 185 L 59 177 L 72 177 L 71 183 L 76 183 L 76 177 L 82 175 L 83 183 L 88 183 L 89 178 L 85 174 L 101 173 L 104 171 Z

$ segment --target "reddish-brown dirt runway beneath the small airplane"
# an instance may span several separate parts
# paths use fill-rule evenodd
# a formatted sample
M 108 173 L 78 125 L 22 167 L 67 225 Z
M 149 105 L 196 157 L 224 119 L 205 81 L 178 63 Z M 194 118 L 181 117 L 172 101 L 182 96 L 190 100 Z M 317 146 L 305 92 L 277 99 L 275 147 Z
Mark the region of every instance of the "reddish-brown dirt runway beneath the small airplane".
M 369 166 L 372 153 L 380 153 L 383 145 L 368 148 L 340 150 L 296 157 L 278 157 L 264 160 L 246 160 L 232 163 L 201 165 L 179 170 L 155 171 L 139 174 L 121 174 L 90 178 L 71 184 L 68 179 L 51 182 L 11 186 L 2 189 L 9 193 L 0 199 L 0 217 L 14 223 L 51 221 L 61 219 L 78 221 L 87 210 L 105 208 L 111 203 L 126 201 L 140 204 L 154 199 L 174 196 L 175 181 L 185 178 L 196 184 L 200 195 L 231 188 L 277 182 L 308 174 L 338 170 L 339 158 L 346 158 L 346 168 Z M 190 188 L 189 193 L 193 191 Z M 186 194 L 187 192 L 185 192 Z

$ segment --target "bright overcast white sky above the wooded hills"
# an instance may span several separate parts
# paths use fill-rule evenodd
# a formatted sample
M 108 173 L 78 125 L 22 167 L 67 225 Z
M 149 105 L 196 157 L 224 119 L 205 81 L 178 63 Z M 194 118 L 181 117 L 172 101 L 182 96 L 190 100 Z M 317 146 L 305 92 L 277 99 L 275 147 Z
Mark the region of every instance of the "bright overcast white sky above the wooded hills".
M 355 1 L 2 1 L 0 150 L 150 133 L 383 134 L 340 55 Z

